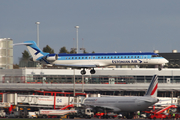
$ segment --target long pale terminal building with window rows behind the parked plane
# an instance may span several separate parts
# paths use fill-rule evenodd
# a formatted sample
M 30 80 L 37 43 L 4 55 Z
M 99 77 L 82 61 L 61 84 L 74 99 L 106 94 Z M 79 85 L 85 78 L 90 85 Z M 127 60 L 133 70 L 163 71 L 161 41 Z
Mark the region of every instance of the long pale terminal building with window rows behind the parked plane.
M 154 74 L 159 77 L 158 96 L 180 96 L 180 69 L 96 68 L 82 76 L 77 69 L 1 69 L 0 91 L 86 92 L 102 95 L 144 95 Z M 74 87 L 75 80 L 75 87 Z M 84 80 L 84 82 L 83 82 Z

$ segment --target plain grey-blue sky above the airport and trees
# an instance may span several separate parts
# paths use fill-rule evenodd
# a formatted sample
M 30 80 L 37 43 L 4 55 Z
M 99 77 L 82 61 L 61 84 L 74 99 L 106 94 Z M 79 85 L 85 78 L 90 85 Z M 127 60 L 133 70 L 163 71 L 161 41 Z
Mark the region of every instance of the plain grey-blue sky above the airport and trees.
M 56 53 L 76 47 L 76 25 L 87 52 L 180 51 L 180 0 L 1 0 L 0 15 L 0 38 L 36 41 L 39 21 L 40 48 Z

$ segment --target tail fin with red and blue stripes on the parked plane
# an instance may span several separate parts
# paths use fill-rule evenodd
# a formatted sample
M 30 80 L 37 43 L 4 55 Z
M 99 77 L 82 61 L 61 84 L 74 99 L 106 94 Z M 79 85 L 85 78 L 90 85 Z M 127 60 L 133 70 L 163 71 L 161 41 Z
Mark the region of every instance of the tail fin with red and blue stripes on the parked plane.
M 145 96 L 157 97 L 158 77 L 154 75 Z

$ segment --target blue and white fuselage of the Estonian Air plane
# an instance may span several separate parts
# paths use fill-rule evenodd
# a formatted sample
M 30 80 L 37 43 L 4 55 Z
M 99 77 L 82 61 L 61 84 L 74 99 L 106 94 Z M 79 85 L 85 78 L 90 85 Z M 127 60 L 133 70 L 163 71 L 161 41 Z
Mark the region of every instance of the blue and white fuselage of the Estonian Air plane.
M 50 54 L 54 57 L 55 54 Z M 58 54 L 51 64 L 68 65 L 164 65 L 168 61 L 156 53 L 94 53 L 94 54 Z

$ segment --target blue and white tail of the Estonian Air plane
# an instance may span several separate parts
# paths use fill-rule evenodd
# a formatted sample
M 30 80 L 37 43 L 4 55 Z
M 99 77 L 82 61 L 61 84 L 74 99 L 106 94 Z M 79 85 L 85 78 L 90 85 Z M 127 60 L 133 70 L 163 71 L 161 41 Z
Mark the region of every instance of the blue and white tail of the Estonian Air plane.
M 33 61 L 38 61 L 42 57 L 48 55 L 49 53 L 42 52 L 36 45 L 34 41 L 25 41 L 24 43 L 17 43 L 14 45 L 26 45 L 31 56 L 33 57 Z

